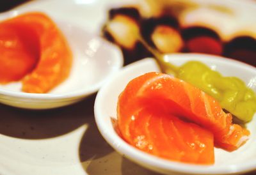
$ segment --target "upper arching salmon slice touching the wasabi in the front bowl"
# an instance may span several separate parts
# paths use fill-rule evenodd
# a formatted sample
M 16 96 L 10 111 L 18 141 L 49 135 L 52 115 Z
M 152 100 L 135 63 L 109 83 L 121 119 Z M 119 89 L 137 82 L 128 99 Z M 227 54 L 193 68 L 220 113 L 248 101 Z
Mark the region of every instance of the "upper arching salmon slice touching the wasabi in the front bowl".
M 214 135 L 214 144 L 228 151 L 239 148 L 250 135 L 246 128 L 233 124 L 231 114 L 226 114 L 211 96 L 170 75 L 152 72 L 131 80 L 118 98 L 118 127 L 125 141 L 132 141 L 132 116 L 148 104 L 166 116 L 176 116 L 208 130 Z

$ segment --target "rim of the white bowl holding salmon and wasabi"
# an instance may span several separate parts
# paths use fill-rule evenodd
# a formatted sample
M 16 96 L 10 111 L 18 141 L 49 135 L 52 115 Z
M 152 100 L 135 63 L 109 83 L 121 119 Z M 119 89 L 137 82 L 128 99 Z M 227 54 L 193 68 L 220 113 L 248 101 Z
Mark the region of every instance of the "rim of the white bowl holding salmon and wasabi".
M 225 62 L 232 65 L 242 66 L 243 68 L 246 68 L 246 71 L 250 71 L 255 73 L 256 75 L 256 68 L 248 65 L 246 63 L 243 63 L 241 61 L 236 61 L 234 59 L 221 57 L 221 56 L 212 56 L 208 54 L 170 54 L 168 56 L 185 56 L 185 57 L 211 57 L 211 59 L 218 59 L 218 61 Z M 201 59 L 201 58 L 200 58 Z M 205 59 L 202 57 L 202 59 Z M 207 58 L 206 58 L 207 59 Z M 141 64 L 141 63 L 138 63 Z M 121 76 L 123 73 L 129 71 L 134 63 L 131 65 L 125 66 L 120 70 L 120 73 L 118 75 L 111 77 L 109 81 L 104 84 L 104 86 L 99 90 L 97 93 L 96 99 L 95 99 L 95 105 L 94 105 L 94 114 L 95 114 L 95 121 L 97 123 L 97 127 L 99 128 L 100 133 L 106 139 L 106 141 L 116 149 L 121 155 L 126 156 L 127 158 L 130 158 L 131 160 L 134 160 L 134 162 L 138 162 L 138 164 L 147 164 L 151 167 L 160 168 L 163 171 L 173 171 L 173 172 L 179 172 L 179 173 L 188 173 L 188 174 L 232 174 L 232 173 L 242 173 L 242 172 L 248 172 L 253 171 L 256 169 L 256 162 L 246 162 L 246 164 L 236 164 L 236 167 L 232 165 L 218 165 L 212 166 L 212 165 L 193 165 L 193 164 L 184 164 L 181 162 L 174 162 L 172 160 L 165 160 L 164 158 L 159 158 L 154 155 L 150 155 L 148 153 L 145 153 L 143 151 L 140 151 L 140 149 L 136 149 L 133 146 L 129 145 L 127 142 L 125 142 L 114 130 L 114 128 L 106 128 L 105 120 L 102 120 L 102 116 L 106 116 L 104 112 L 100 110 L 101 101 L 100 99 L 104 96 L 104 94 L 108 93 L 108 86 L 111 86 L 111 82 L 115 80 L 115 77 Z M 109 122 L 110 122 L 110 116 L 109 116 Z

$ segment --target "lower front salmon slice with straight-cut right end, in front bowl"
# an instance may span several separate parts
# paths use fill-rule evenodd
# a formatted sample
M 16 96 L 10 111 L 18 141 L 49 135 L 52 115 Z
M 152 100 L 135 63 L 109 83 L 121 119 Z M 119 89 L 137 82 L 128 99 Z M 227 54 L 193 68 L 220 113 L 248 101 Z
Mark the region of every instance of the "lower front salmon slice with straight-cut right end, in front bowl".
M 158 108 L 147 106 L 136 112 L 129 124 L 132 146 L 162 158 L 192 164 L 213 164 L 214 143 L 211 132 Z

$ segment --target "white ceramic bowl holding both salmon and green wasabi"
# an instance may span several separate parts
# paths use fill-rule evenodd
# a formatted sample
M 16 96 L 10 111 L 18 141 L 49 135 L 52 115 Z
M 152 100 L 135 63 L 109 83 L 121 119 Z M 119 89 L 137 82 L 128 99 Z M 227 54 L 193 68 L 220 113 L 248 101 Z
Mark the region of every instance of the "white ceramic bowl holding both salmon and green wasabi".
M 175 65 L 182 65 L 189 60 L 202 61 L 212 69 L 225 76 L 236 76 L 243 79 L 256 91 L 256 68 L 232 59 L 204 54 L 172 54 L 166 56 Z M 99 91 L 95 100 L 95 120 L 102 136 L 120 154 L 153 171 L 164 174 L 239 174 L 256 170 L 256 116 L 248 123 L 250 140 L 233 152 L 214 148 L 214 165 L 191 165 L 164 160 L 149 155 L 127 144 L 115 132 L 111 118 L 116 118 L 118 95 L 124 90 L 129 80 L 146 72 L 159 72 L 154 59 L 143 59 L 125 66 L 115 77 L 112 77 Z

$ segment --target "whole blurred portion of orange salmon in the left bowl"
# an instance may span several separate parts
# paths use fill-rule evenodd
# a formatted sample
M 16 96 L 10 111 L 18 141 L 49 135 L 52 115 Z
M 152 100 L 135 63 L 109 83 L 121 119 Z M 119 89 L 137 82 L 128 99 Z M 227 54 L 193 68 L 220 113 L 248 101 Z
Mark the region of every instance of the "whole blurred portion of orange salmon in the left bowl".
M 67 79 L 72 53 L 50 17 L 29 12 L 0 23 L 0 83 L 22 81 L 26 93 L 47 93 Z

